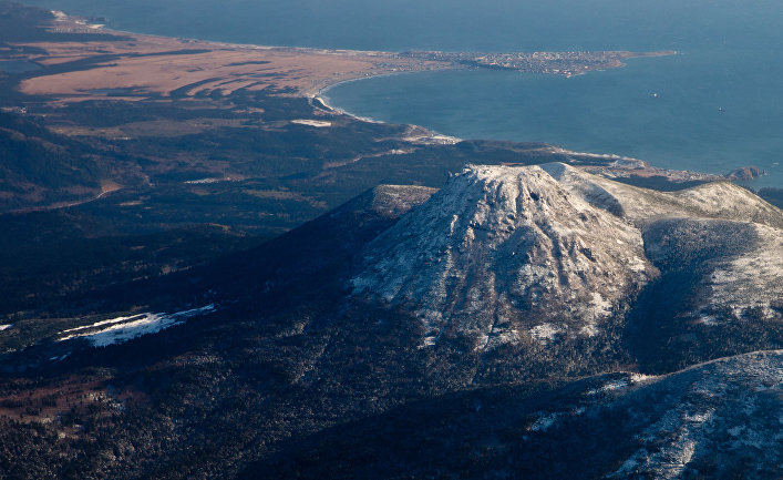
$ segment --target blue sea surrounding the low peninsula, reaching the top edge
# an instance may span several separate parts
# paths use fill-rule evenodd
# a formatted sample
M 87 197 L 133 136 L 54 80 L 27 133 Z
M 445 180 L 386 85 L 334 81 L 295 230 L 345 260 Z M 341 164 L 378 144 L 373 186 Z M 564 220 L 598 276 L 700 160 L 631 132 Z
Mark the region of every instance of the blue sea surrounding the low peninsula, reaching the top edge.
M 767 171 L 783 187 L 780 0 L 23 0 L 110 28 L 240 43 L 511 52 L 673 49 L 574 78 L 400 74 L 337 85 L 329 102 L 459 137 L 542 141 L 657 166 Z M 653 95 L 657 94 L 657 95 Z

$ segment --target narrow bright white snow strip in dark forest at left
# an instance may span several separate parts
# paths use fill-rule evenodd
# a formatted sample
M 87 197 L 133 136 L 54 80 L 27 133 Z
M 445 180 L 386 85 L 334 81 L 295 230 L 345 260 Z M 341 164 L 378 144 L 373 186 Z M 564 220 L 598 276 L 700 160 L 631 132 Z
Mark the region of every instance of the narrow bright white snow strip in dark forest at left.
M 109 345 L 123 344 L 143 335 L 156 334 L 161 330 L 165 330 L 166 328 L 184 324 L 188 318 L 206 315 L 215 310 L 215 304 L 209 304 L 200 308 L 193 308 L 174 314 L 154 314 L 147 312 L 130 317 L 117 317 L 96 321 L 92 325 L 63 330 L 61 331 L 61 335 L 68 333 L 72 334 L 58 338 L 58 341 L 70 340 L 73 338 L 84 338 L 90 341 L 93 347 L 105 347 Z M 81 331 L 92 330 L 93 328 L 104 326 L 106 327 L 96 331 Z

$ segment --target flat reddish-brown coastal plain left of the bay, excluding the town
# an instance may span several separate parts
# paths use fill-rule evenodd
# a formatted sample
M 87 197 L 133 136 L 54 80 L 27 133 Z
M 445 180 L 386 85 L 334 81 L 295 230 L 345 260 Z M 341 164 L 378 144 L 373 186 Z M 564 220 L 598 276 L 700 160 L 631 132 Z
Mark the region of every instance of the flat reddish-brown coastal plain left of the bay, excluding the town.
M 151 95 L 195 96 L 238 90 L 270 89 L 312 95 L 340 81 L 389 74 L 454 68 L 442 61 L 400 58 L 394 53 L 334 51 L 224 44 L 84 28 L 59 16 L 52 31 L 101 32 L 117 37 L 85 42 L 30 42 L 17 48 L 35 49 L 19 55 L 42 65 L 87 62 L 85 68 L 45 74 L 23 81 L 20 91 L 49 95 L 59 102 L 97 100 L 146 100 Z

